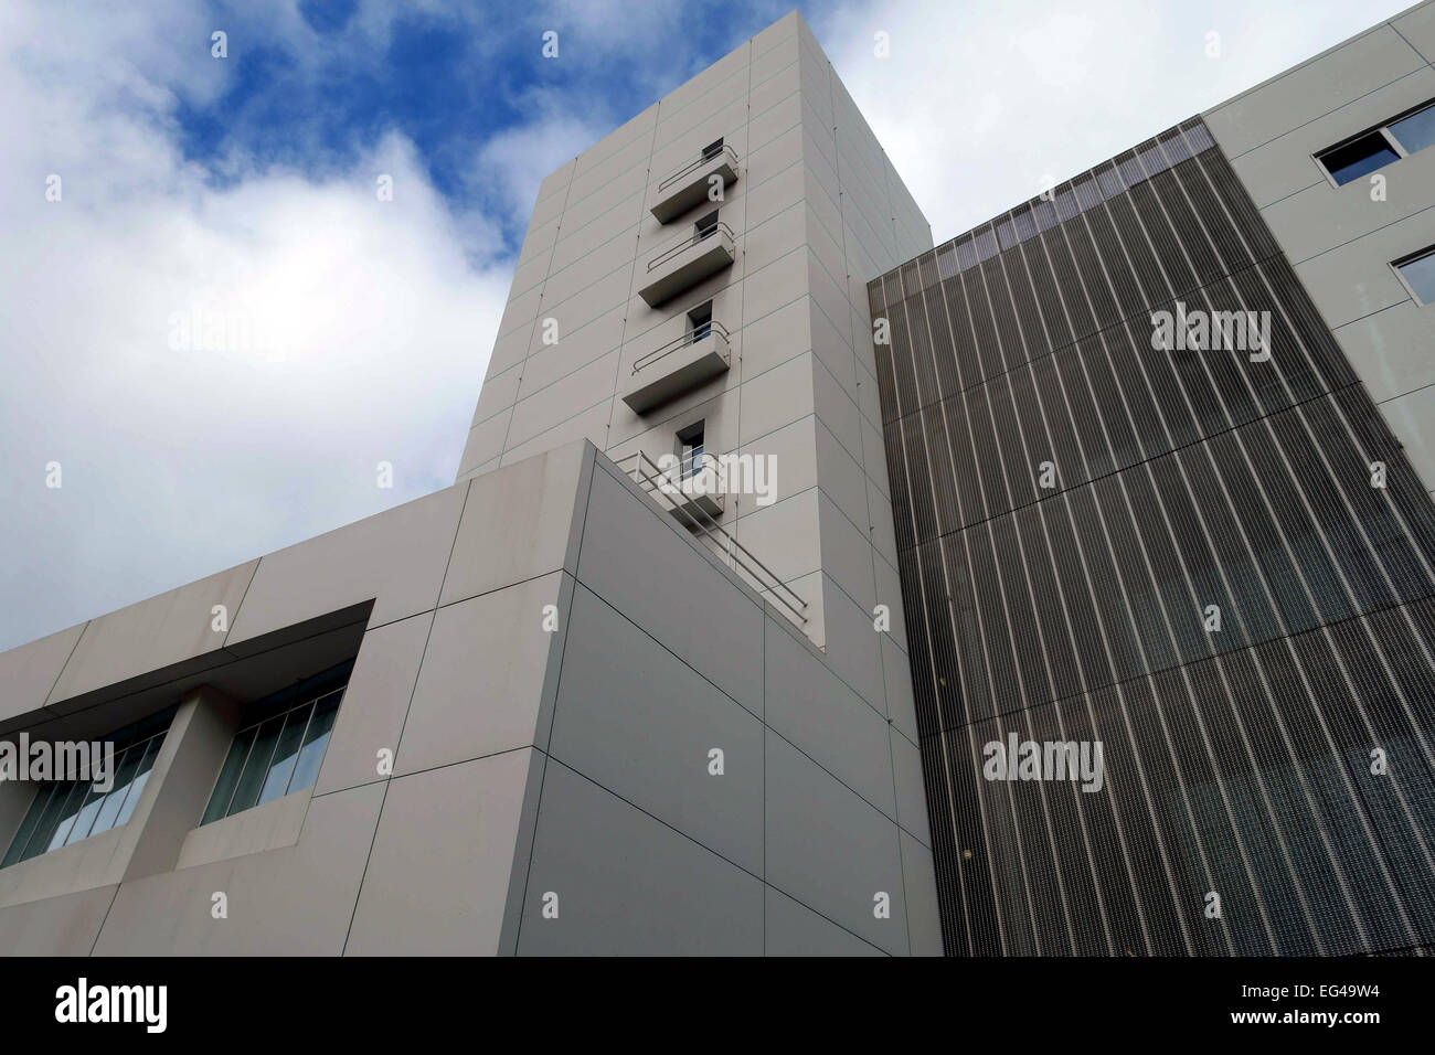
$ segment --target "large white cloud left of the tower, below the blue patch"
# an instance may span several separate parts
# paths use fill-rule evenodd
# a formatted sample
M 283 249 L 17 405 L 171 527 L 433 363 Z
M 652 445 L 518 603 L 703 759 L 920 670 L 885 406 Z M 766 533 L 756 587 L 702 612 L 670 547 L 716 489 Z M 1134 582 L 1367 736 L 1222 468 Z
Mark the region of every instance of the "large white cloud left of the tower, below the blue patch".
M 156 22 L 207 40 L 184 7 Z M 0 649 L 452 482 L 509 281 L 468 263 L 485 221 L 399 136 L 326 181 L 212 187 L 154 24 L 4 10 Z M 197 307 L 244 326 L 185 343 Z

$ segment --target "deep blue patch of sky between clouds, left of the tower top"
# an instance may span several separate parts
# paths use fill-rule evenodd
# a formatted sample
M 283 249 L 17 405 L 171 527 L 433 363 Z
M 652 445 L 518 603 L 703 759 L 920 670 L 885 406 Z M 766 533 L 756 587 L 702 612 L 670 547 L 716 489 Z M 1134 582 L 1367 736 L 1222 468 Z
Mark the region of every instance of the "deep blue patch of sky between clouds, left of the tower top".
M 558 112 L 598 136 L 786 10 L 684 4 L 679 17 L 676 7 L 641 3 L 522 11 L 301 0 L 290 24 L 276 26 L 263 6 L 212 4 L 230 56 L 217 90 L 172 82 L 175 141 L 222 185 L 273 167 L 346 172 L 397 133 L 452 208 L 499 221 L 499 241 L 471 247 L 484 263 L 517 254 L 525 220 L 507 184 L 475 171 L 485 144 Z M 363 14 L 380 11 L 376 32 Z M 630 32 L 614 36 L 623 26 Z M 542 53 L 548 30 L 558 33 L 555 57 Z

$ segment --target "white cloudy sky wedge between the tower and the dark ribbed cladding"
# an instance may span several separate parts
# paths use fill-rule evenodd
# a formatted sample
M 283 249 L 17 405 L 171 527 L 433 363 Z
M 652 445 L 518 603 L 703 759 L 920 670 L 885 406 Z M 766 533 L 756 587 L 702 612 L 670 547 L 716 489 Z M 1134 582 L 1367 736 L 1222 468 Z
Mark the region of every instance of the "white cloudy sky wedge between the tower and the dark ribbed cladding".
M 941 243 L 1406 6 L 855 0 L 812 30 Z

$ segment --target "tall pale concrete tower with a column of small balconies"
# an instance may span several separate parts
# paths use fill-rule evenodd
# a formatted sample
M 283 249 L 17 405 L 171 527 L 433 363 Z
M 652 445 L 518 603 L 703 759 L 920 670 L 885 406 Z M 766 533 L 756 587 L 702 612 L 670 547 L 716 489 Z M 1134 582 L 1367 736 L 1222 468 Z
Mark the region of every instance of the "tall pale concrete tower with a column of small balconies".
M 867 281 L 928 248 L 792 11 L 544 179 L 459 479 L 578 438 L 630 469 L 771 459 L 761 497 L 676 515 L 875 699 L 907 665 Z

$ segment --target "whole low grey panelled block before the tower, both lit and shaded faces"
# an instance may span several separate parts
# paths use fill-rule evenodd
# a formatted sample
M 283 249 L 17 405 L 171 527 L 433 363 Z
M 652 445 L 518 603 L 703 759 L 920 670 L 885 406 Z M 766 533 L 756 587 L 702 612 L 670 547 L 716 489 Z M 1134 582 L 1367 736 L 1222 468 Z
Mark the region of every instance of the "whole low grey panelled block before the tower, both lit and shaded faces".
M 195 827 L 240 705 L 350 656 L 316 785 Z M 0 670 L 10 735 L 185 700 L 128 824 L 0 870 L 0 952 L 940 952 L 910 698 L 847 685 L 584 442 Z M 9 838 L 33 792 L 0 791 Z

